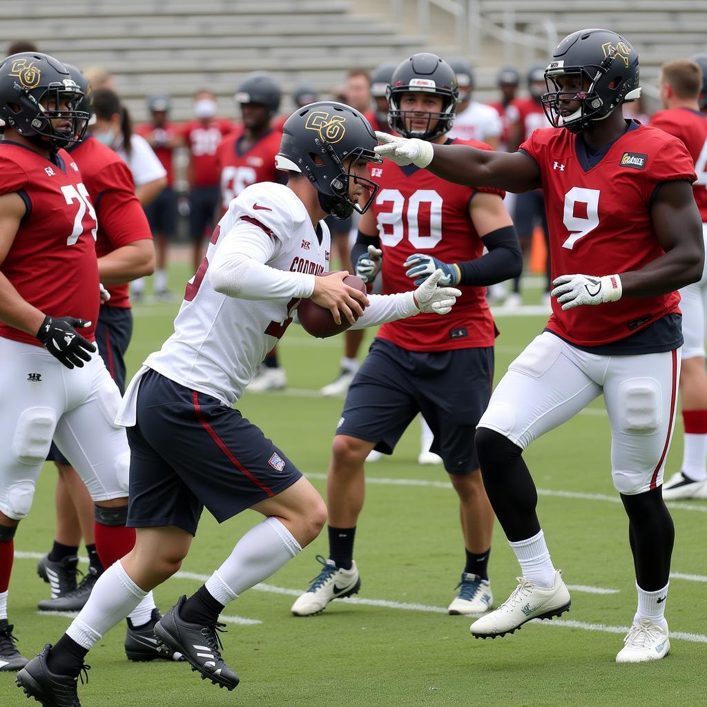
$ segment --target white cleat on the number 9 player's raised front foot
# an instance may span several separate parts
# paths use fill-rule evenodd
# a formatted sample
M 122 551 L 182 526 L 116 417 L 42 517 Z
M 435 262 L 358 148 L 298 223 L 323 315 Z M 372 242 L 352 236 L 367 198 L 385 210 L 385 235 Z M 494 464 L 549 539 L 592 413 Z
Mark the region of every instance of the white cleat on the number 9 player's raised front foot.
M 513 633 L 532 619 L 552 619 L 568 611 L 570 592 L 562 581 L 562 571 L 555 571 L 555 583 L 549 589 L 534 585 L 525 577 L 518 577 L 513 594 L 486 616 L 477 619 L 469 631 L 474 638 L 496 638 Z

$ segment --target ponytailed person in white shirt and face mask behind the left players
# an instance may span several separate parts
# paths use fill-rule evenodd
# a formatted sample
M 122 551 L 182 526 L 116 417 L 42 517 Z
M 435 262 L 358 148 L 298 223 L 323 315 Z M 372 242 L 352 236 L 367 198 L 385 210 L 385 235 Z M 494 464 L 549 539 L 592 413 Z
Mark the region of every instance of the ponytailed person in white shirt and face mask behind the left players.
M 127 163 L 135 182 L 135 194 L 143 209 L 167 186 L 167 171 L 146 139 L 132 132 L 132 122 L 115 91 L 98 88 L 93 91 L 95 124 L 89 126 L 95 139 L 115 150 Z M 145 290 L 145 279 L 132 283 L 132 296 L 139 301 Z

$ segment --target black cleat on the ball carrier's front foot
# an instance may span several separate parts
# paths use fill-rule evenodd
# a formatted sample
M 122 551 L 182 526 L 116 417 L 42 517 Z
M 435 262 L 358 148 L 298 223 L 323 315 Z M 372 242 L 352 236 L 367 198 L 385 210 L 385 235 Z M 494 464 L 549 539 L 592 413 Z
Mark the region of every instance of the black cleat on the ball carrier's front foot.
M 176 653 L 181 653 L 192 666 L 192 670 L 201 673 L 201 679 L 207 678 L 218 685 L 232 690 L 238 685 L 238 675 L 223 662 L 223 645 L 217 631 L 222 631 L 225 624 L 187 624 L 180 618 L 180 611 L 185 595 L 173 606 L 163 619 L 155 624 L 155 636 Z

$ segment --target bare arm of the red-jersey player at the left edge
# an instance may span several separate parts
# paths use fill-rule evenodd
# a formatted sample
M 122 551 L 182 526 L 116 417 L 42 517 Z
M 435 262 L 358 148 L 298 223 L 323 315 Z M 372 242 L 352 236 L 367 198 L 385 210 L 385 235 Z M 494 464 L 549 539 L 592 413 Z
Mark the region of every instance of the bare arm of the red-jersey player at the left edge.
M 28 334 L 37 334 L 45 315 L 25 301 L 2 272 L 2 263 L 10 250 L 27 207 L 19 194 L 0 197 L 0 319 Z

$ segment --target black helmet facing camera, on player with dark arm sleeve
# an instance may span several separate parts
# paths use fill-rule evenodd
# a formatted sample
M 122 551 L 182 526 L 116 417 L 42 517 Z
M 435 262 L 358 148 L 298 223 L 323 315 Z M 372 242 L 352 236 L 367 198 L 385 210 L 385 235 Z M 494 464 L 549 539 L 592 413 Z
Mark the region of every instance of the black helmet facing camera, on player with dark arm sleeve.
M 407 129 L 406 118 L 415 114 L 400 109 L 400 96 L 403 93 L 426 91 L 441 95 L 444 98 L 440 112 L 427 113 L 427 128 L 421 131 Z M 388 124 L 404 137 L 417 137 L 423 140 L 433 140 L 449 132 L 455 121 L 455 108 L 459 100 L 457 77 L 452 67 L 436 54 L 413 54 L 405 59 L 393 72 L 388 96 Z M 435 128 L 431 124 L 437 121 Z

